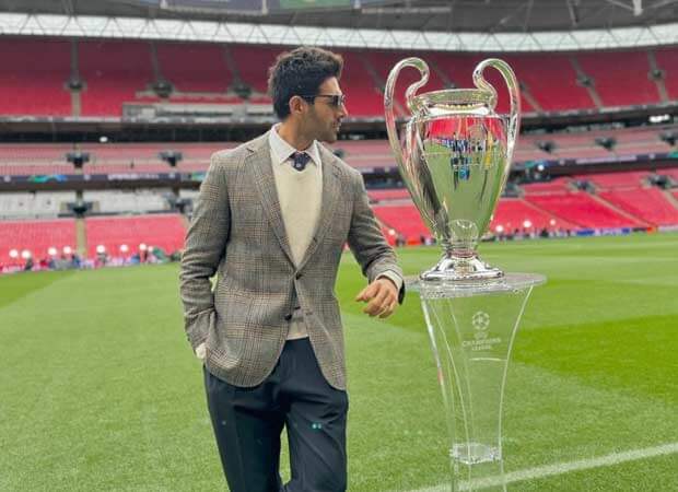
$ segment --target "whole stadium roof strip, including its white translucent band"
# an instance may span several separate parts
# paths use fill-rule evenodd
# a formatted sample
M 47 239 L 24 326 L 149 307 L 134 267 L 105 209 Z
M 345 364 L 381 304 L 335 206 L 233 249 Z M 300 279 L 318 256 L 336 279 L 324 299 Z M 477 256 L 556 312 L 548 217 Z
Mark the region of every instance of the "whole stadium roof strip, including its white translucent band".
M 0 34 L 529 51 L 678 44 L 678 0 L 0 0 Z

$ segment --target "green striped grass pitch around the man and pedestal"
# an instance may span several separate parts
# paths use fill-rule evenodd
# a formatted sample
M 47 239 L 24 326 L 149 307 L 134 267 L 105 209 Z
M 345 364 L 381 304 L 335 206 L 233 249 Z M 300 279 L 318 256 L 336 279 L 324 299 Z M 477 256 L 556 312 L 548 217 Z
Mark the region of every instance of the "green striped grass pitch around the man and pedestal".
M 678 235 L 481 253 L 549 279 L 528 303 L 510 366 L 506 471 L 678 441 Z M 439 249 L 399 256 L 413 274 Z M 419 298 L 371 319 L 352 301 L 363 285 L 346 255 L 337 294 L 350 490 L 437 485 L 448 480 L 447 436 Z M 182 323 L 176 265 L 0 278 L 0 490 L 225 490 Z M 676 469 L 669 454 L 510 490 L 678 490 Z

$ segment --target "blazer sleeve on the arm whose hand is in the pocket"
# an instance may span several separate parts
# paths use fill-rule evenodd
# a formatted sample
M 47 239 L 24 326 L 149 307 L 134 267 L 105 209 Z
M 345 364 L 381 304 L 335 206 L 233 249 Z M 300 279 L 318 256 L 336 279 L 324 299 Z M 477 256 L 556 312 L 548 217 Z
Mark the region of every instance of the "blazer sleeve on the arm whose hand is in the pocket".
M 179 291 L 185 330 L 194 350 L 204 342 L 214 323 L 210 278 L 225 255 L 231 227 L 226 179 L 221 165 L 223 159 L 220 153 L 211 157 L 182 255 Z

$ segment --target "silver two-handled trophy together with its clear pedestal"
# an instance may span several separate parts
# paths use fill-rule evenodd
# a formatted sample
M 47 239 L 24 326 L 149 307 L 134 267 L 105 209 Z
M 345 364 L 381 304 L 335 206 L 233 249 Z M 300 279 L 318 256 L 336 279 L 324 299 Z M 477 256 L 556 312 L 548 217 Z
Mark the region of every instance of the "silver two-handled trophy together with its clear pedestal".
M 400 70 L 413 67 L 419 82 L 406 91 L 412 116 L 400 139 L 394 89 Z M 508 85 L 511 113 L 498 115 L 496 91 L 482 77 L 498 69 Z M 502 408 L 511 350 L 527 300 L 546 281 L 506 273 L 478 258 L 508 176 L 519 124 L 518 84 L 498 59 L 474 71 L 476 89 L 417 95 L 429 80 L 419 58 L 398 62 L 384 94 L 393 152 L 414 204 L 445 254 L 410 285 L 419 291 L 443 391 L 449 434 L 452 491 L 506 490 Z

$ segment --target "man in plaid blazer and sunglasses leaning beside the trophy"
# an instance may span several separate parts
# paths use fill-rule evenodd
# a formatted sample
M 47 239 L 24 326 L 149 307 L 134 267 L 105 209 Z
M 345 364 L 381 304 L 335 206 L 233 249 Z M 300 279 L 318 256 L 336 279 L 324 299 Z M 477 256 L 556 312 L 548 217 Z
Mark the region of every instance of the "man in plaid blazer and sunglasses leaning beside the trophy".
M 278 57 L 269 90 L 281 122 L 212 156 L 186 236 L 186 331 L 204 361 L 231 492 L 346 490 L 348 396 L 334 294 L 346 242 L 370 280 L 356 296 L 365 313 L 386 317 L 402 301 L 402 273 L 360 173 L 318 143 L 335 142 L 348 114 L 342 65 L 318 48 Z

